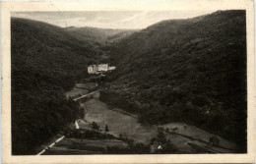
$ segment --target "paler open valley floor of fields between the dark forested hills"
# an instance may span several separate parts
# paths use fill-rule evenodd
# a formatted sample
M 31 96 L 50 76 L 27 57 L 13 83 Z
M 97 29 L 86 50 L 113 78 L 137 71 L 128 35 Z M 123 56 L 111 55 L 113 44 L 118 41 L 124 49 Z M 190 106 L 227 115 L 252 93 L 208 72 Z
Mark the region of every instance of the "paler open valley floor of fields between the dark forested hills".
M 77 84 L 77 86 L 80 85 L 81 83 Z M 86 83 L 83 85 L 86 85 Z M 88 85 L 92 86 L 95 83 L 89 83 Z M 77 87 L 74 88 L 76 91 L 77 89 Z M 233 153 L 237 150 L 237 146 L 234 143 L 222 137 L 219 137 L 219 145 L 212 145 L 210 137 L 214 135 L 184 123 L 171 123 L 160 126 L 141 124 L 136 115 L 127 115 L 126 111 L 120 108 L 115 109 L 101 102 L 98 99 L 98 91 L 94 91 L 91 95 L 93 96 L 88 95 L 85 102 L 81 100 L 81 106 L 86 110 L 85 116 L 76 121 L 79 129 L 73 125 L 71 131 L 74 131 L 74 129 L 77 129 L 75 131 L 78 132 L 94 130 L 92 124 L 95 122 L 99 133 L 106 133 L 116 138 L 102 139 L 95 137 L 88 139 L 63 136 L 61 137 L 63 139 L 58 141 L 60 139 L 58 138 L 55 144 L 46 145 L 45 151 L 41 155 L 127 153 L 128 149 L 130 149 L 129 143 L 122 140 L 123 138 L 127 140 L 132 138 L 132 142 L 135 145 L 141 143 L 147 145 L 144 153 L 159 153 L 157 149 L 152 149 L 154 146 L 152 139 L 157 138 L 160 131 L 164 132 L 164 137 L 170 141 L 173 148 L 172 153 Z M 107 132 L 105 132 L 105 125 L 108 126 Z M 107 148 L 116 150 L 108 152 Z M 120 152 L 118 151 L 119 149 L 124 150 Z

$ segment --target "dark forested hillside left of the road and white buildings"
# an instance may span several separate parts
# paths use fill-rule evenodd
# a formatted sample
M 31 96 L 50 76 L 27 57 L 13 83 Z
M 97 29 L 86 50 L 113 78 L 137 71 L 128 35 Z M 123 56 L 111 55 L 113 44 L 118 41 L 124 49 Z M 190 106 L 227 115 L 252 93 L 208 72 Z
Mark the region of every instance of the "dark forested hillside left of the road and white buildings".
M 61 27 L 11 20 L 12 150 L 31 154 L 80 115 L 64 90 L 85 77 L 96 48 Z

